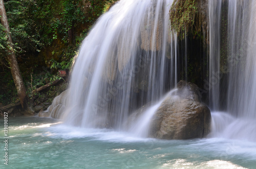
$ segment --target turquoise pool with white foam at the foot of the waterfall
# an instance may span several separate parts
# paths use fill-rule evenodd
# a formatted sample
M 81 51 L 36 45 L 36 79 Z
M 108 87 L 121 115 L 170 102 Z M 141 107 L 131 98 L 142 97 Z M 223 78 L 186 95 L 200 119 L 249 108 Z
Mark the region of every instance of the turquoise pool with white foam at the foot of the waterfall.
M 52 118 L 9 118 L 8 148 L 8 168 L 256 168 L 255 142 L 139 138 Z

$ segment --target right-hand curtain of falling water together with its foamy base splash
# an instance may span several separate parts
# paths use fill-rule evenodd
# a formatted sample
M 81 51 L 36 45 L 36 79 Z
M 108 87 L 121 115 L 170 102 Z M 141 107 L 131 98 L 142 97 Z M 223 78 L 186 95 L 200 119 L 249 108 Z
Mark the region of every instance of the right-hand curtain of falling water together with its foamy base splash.
M 226 103 L 222 108 L 232 116 L 213 113 L 213 133 L 214 136 L 256 141 L 256 2 L 227 1 L 227 21 L 224 23 L 227 25 L 227 35 L 226 39 L 221 39 L 226 41 L 228 49 L 226 60 L 216 52 L 220 50 L 221 33 L 225 34 L 220 31 L 220 19 L 225 19 L 224 14 L 220 18 L 223 9 L 221 6 L 222 1 L 209 3 L 210 19 L 217 20 L 210 22 L 210 36 L 216 37 L 210 40 L 210 58 L 214 58 L 210 63 L 210 84 L 213 93 L 210 99 L 218 103 L 212 104 L 214 110 L 220 108 L 220 100 Z M 214 10 L 218 10 L 217 17 L 213 16 Z M 228 77 L 226 85 L 221 86 L 226 94 L 221 92 L 222 76 Z M 226 101 L 221 98 L 226 98 Z

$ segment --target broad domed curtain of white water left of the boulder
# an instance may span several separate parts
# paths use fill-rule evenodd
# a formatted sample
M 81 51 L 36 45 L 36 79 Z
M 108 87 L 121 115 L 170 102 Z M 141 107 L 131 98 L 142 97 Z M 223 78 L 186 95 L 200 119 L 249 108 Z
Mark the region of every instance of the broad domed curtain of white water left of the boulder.
M 173 0 L 121 0 L 83 40 L 72 70 L 66 124 L 120 129 L 131 112 L 177 82 Z

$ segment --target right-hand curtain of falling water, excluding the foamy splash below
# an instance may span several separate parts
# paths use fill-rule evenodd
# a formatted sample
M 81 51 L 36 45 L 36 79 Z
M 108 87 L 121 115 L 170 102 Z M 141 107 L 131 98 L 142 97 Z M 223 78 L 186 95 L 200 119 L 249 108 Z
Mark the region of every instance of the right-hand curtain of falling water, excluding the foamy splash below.
M 226 3 L 227 7 L 223 7 L 221 0 L 209 2 L 210 107 L 256 120 L 256 2 L 230 0 Z M 221 23 L 225 15 L 227 20 Z M 223 24 L 226 29 L 221 31 Z M 227 35 L 221 38 L 224 33 Z M 221 41 L 227 46 L 223 56 L 220 52 L 225 48 L 220 48 Z M 220 86 L 221 81 L 227 82 Z

